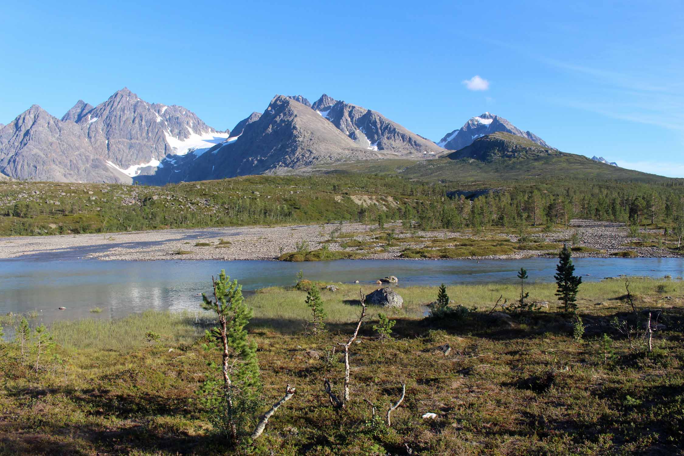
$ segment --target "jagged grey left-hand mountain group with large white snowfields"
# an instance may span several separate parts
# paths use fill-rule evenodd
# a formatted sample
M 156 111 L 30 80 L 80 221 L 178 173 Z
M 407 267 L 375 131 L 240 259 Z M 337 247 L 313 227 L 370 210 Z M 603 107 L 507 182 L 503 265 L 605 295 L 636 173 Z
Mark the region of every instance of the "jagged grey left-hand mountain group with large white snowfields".
M 31 126 L 27 116 L 40 122 Z M 61 120 L 31 107 L 10 125 L 0 127 L 0 171 L 23 180 L 131 183 L 167 155 L 200 155 L 229 136 L 189 109 L 147 103 L 127 88 L 95 107 L 79 100 Z

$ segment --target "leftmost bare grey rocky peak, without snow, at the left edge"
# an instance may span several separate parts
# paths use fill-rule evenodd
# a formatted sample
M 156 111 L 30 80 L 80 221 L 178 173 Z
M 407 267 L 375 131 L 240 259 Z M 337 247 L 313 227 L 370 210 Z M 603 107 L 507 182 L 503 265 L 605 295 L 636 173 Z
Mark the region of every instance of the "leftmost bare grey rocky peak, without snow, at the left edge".
M 20 180 L 131 183 L 94 153 L 77 124 L 38 105 L 0 129 L 0 172 Z

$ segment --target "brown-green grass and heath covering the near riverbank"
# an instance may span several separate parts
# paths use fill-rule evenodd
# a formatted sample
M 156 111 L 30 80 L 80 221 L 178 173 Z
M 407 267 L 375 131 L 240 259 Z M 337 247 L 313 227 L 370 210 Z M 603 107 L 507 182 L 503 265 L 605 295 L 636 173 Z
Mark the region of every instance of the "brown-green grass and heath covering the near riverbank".
M 21 362 L 16 345 L 0 358 L 0 454 L 7 455 L 566 455 L 679 454 L 684 447 L 684 312 L 679 280 L 630 278 L 639 308 L 661 309 L 666 330 L 654 334 L 653 353 L 630 348 L 609 321 L 629 316 L 623 280 L 582 284 L 583 340 L 573 317 L 556 312 L 553 284 L 529 284 L 531 299 L 549 310 L 512 314 L 512 326 L 487 316 L 514 284 L 447 286 L 456 304 L 477 307 L 460 320 L 422 319 L 436 287 L 397 287 L 404 308 L 391 319 L 395 340 L 380 343 L 369 309 L 350 353 L 350 403 L 333 410 L 322 392 L 327 377 L 339 392 L 343 364 L 326 353 L 353 331 L 359 286 L 321 291 L 328 333 L 302 336 L 310 309 L 306 293 L 274 287 L 248 297 L 254 308 L 250 338 L 259 345 L 267 403 L 297 388 L 248 451 L 231 451 L 211 432 L 196 394 L 207 362 L 202 348 L 210 325 L 204 312 L 144 312 L 116 320 L 53 324 L 56 360 L 40 375 Z M 663 290 L 663 286 L 665 289 Z M 375 287 L 362 285 L 365 292 Z M 663 297 L 663 291 L 675 296 Z M 596 305 L 601 302 L 603 304 Z M 157 332 L 158 343 L 146 341 Z M 603 334 L 611 337 L 608 358 Z M 436 353 L 449 344 L 451 353 Z M 319 353 L 320 359 L 310 353 Z M 29 355 L 29 357 L 32 355 Z M 61 360 L 61 361 L 60 361 Z M 393 425 L 371 420 L 406 399 Z M 426 412 L 434 420 L 423 420 Z

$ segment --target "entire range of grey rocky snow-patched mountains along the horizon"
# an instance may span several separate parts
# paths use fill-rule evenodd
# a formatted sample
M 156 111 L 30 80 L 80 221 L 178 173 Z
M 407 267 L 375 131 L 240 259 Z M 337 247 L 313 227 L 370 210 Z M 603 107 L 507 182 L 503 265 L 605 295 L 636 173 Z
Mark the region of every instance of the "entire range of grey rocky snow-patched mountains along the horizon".
M 488 112 L 434 143 L 377 111 L 327 94 L 314 103 L 276 95 L 263 113 L 222 131 L 185 107 L 148 103 L 123 88 L 96 106 L 78 100 L 60 119 L 33 105 L 0 124 L 0 173 L 19 180 L 161 185 L 284 174 L 326 163 L 435 159 L 497 132 L 557 152 Z

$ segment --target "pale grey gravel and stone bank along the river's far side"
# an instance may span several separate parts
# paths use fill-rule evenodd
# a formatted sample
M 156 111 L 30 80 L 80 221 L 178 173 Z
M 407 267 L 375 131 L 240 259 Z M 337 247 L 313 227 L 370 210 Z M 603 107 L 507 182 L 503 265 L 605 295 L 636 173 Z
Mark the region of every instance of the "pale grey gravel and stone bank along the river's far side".
M 478 237 L 495 235 L 517 241 L 515 234 L 488 233 L 479 236 L 469 232 L 422 232 L 399 234 L 399 224 L 387 224 L 396 228 L 397 235 L 392 246 L 363 250 L 364 259 L 403 259 L 402 250 L 407 247 L 423 248 L 432 239 Z M 367 230 L 367 226 L 356 223 L 297 225 L 297 226 L 249 226 L 232 228 L 176 229 L 142 232 L 122 232 L 111 234 L 67 234 L 44 237 L 5 237 L 0 238 L 0 258 L 97 258 L 100 260 L 276 260 L 285 252 L 295 252 L 305 244 L 309 250 L 327 245 L 330 251 L 346 250 L 362 252 L 358 248 L 343 249 L 341 244 L 350 239 L 360 242 L 372 241 L 377 232 Z M 332 236 L 331 236 L 332 232 Z M 575 258 L 614 258 L 615 252 L 632 251 L 641 258 L 677 258 L 680 254 L 665 247 L 625 247 L 623 244 L 638 241 L 629 237 L 624 224 L 614 222 L 595 222 L 575 219 L 568 228 L 553 232 L 531 232 L 534 242 L 567 242 L 577 233 L 577 245 L 605 251 L 574 252 Z M 651 230 L 655 237 L 660 232 Z M 414 241 L 401 243 L 402 238 L 411 237 Z M 415 241 L 422 237 L 421 242 Z M 375 250 L 375 251 L 374 251 Z M 382 250 L 382 251 L 380 251 Z M 510 255 L 471 256 L 464 259 L 517 259 L 556 256 L 553 251 L 521 250 Z

